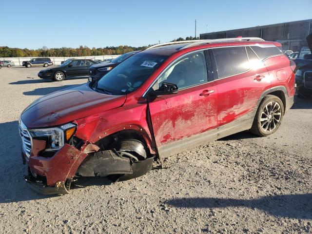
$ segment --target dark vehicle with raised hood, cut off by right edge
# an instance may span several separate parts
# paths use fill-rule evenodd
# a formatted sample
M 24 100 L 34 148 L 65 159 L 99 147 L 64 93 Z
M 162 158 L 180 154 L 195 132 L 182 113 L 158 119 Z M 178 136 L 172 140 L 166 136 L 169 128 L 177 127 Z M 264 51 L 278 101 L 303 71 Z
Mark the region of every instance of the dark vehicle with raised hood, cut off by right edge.
M 308 61 L 305 65 L 299 66 L 296 72 L 295 81 L 298 93 L 304 97 L 312 96 L 312 34 L 307 37 L 310 54 L 305 53 L 303 60 Z M 310 62 L 309 62 L 310 61 Z M 301 63 L 302 64 L 302 63 Z

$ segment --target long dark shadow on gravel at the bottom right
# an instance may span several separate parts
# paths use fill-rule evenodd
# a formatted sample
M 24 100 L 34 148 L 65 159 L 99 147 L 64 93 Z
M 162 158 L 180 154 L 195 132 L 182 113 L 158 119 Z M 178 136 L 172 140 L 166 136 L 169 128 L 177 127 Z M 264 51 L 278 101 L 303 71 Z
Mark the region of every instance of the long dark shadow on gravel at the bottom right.
M 214 197 L 176 198 L 165 203 L 177 208 L 192 209 L 248 207 L 277 217 L 312 219 L 312 194 L 263 196 L 250 200 Z

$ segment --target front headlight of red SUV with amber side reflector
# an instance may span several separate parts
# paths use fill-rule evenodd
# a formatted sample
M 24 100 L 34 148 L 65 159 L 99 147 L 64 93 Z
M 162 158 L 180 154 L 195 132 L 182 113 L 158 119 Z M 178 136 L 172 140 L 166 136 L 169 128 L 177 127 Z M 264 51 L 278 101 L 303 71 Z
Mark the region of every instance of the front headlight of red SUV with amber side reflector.
M 55 128 L 30 129 L 28 131 L 33 138 L 46 141 L 45 151 L 54 151 L 59 150 L 74 135 L 75 130 L 76 125 L 68 123 Z

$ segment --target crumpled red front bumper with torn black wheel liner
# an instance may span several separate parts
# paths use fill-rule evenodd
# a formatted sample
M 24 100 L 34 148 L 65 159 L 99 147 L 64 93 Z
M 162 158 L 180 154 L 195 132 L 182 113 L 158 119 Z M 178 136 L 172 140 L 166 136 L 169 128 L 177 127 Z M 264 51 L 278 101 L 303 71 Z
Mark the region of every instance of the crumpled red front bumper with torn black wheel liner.
M 154 157 L 150 157 L 131 163 L 129 158 L 119 155 L 115 150 L 87 154 L 92 147 L 84 149 L 81 152 L 65 144 L 50 158 L 22 155 L 27 166 L 25 181 L 40 194 L 68 194 L 74 176 L 120 175 L 119 180 L 126 180 L 150 171 L 154 161 Z

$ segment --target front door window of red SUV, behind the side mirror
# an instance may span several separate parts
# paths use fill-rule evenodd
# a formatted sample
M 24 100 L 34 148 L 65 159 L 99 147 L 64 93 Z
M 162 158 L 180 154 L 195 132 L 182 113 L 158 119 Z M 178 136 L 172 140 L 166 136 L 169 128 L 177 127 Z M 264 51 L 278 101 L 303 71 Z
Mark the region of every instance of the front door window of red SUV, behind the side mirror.
M 195 86 L 208 81 L 206 59 L 203 51 L 195 52 L 174 62 L 159 78 L 153 89 L 163 82 L 176 84 L 179 89 Z M 158 85 L 157 85 L 158 84 Z

